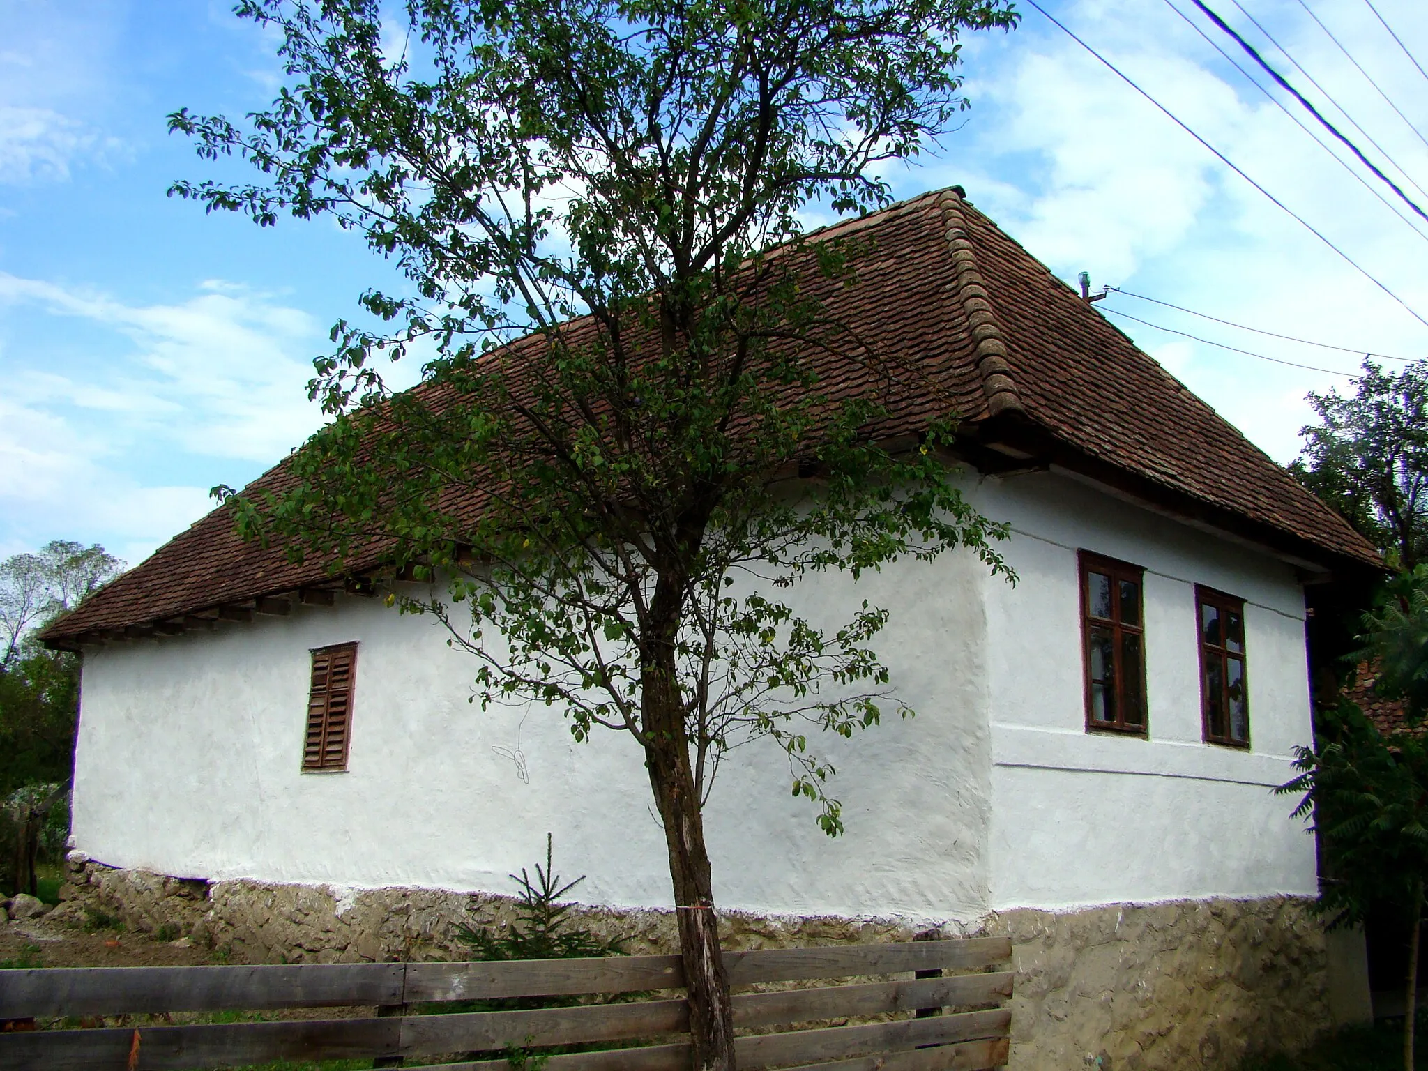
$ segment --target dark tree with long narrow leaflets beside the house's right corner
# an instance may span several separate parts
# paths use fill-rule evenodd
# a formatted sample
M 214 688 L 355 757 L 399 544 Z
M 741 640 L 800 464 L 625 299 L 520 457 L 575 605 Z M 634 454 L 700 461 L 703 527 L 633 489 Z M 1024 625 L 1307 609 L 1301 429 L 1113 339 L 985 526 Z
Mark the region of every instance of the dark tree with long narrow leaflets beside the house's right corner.
M 1418 947 L 1428 878 L 1428 565 L 1389 584 L 1364 617 L 1365 650 L 1379 667 L 1375 690 L 1402 700 L 1404 728 L 1384 737 L 1357 704 L 1318 711 L 1315 747 L 1295 748 L 1298 775 L 1277 793 L 1304 793 L 1295 817 L 1314 815 L 1325 857 L 1319 910 L 1329 925 L 1358 925 L 1375 904 L 1401 908 L 1408 925 L 1404 1067 L 1414 1070 Z

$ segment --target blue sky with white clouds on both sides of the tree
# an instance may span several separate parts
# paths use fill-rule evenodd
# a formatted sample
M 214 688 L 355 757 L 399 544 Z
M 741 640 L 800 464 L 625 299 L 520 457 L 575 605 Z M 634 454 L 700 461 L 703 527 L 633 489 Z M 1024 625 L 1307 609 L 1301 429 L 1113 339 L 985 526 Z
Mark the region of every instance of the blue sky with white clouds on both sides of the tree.
M 1305 1 L 1428 134 L 1428 79 L 1367 3 Z M 1245 11 L 1258 19 L 1382 146 L 1355 133 L 1369 156 L 1387 153 L 1428 187 L 1428 144 L 1299 0 L 1240 3 L 1210 6 L 1321 101 Z M 1428 317 L 1419 238 L 1167 0 L 1042 6 Z M 1428 66 L 1428 4 L 1375 6 Z M 1022 7 L 1015 33 L 968 41 L 968 123 L 892 176 L 901 194 L 964 184 L 1067 280 L 1087 270 L 1095 286 L 1227 320 L 1428 356 L 1428 327 Z M 0 555 L 77 538 L 137 563 L 210 508 L 208 487 L 251 480 L 317 426 L 303 390 L 310 361 L 388 268 L 326 221 L 260 230 L 166 197 L 177 177 L 218 174 L 166 133 L 166 114 L 264 107 L 281 76 L 274 44 L 226 3 L 0 0 Z M 1101 308 L 1282 360 L 1357 367 L 1348 353 L 1127 297 Z M 1117 323 L 1281 461 L 1308 420 L 1305 391 L 1348 383 Z

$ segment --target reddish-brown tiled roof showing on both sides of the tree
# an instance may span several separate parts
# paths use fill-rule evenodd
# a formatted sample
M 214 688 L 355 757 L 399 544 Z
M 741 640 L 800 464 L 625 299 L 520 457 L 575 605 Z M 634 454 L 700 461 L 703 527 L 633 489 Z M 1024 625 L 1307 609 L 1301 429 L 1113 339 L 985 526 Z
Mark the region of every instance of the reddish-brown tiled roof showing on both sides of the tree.
M 1332 558 L 1377 564 L 1349 526 L 1135 348 L 1040 261 L 961 197 L 928 193 L 821 237 L 871 251 L 853 287 L 817 287 L 830 317 L 883 353 L 915 360 L 964 421 L 1025 420 L 1070 448 L 1168 491 L 1294 537 Z M 868 243 L 867 240 L 871 240 Z M 823 358 L 824 361 L 827 358 Z M 830 384 L 858 368 L 820 370 Z M 834 391 L 837 393 L 837 391 Z M 947 403 L 894 387 L 901 428 Z M 254 487 L 277 487 L 277 466 Z M 373 544 L 366 565 L 381 560 Z M 330 581 L 323 563 L 288 563 L 243 543 L 214 510 L 46 631 L 50 643 L 169 621 L 200 610 Z

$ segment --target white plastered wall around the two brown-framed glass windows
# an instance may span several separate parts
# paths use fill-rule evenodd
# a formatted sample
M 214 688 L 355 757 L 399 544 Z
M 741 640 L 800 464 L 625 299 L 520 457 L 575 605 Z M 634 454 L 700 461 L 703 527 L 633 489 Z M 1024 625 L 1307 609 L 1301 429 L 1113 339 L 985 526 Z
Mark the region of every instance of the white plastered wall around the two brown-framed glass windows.
M 1057 473 L 978 506 L 1021 577 L 987 588 L 992 905 L 1314 895 L 1314 841 L 1269 793 L 1311 738 L 1292 568 Z M 1084 728 L 1078 548 L 1145 567 L 1148 740 Z M 1201 743 L 1197 583 L 1245 600 L 1248 753 Z

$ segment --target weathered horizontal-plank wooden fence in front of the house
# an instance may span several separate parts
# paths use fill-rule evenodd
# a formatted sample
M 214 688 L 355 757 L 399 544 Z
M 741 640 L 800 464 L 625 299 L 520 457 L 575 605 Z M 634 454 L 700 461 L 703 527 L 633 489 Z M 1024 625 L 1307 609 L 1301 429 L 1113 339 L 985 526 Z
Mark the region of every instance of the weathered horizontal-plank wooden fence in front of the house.
M 735 992 L 743 1071 L 971 1071 L 1007 1062 L 1011 995 L 1005 938 L 725 952 L 730 982 L 857 978 L 854 984 Z M 960 974 L 950 974 L 960 971 Z M 907 977 L 907 975 L 915 977 Z M 887 981 L 864 977 L 904 975 Z M 7 1071 L 160 1071 L 277 1060 L 427 1061 L 441 1071 L 687 1071 L 690 1050 L 675 955 L 516 962 L 297 964 L 290 967 L 97 967 L 0 971 L 0 1020 L 79 1020 L 171 1012 L 376 1007 L 360 1018 L 49 1028 L 0 1034 Z M 514 997 L 637 994 L 614 1004 L 413 1014 L 416 1005 Z M 640 998 L 640 997 L 645 998 Z M 950 1011 L 971 1008 L 967 1011 Z M 897 1018 L 898 1012 L 914 1017 Z M 892 1018 L 890 1018 L 890 1015 Z M 875 1021 L 867 1021 L 867 1020 Z M 848 1025 L 828 1021 L 864 1020 Z M 878 1021 L 880 1020 L 880 1021 Z M 804 1028 L 793 1028 L 804 1024 Z M 760 1032 L 750 1032 L 750 1031 Z M 651 1044 L 660 1042 L 660 1044 Z M 548 1058 L 557 1045 L 615 1044 Z M 498 1060 L 431 1064 L 453 1054 Z

